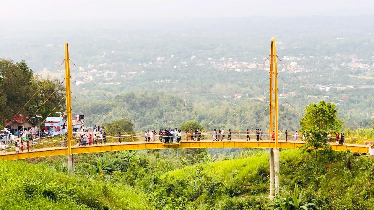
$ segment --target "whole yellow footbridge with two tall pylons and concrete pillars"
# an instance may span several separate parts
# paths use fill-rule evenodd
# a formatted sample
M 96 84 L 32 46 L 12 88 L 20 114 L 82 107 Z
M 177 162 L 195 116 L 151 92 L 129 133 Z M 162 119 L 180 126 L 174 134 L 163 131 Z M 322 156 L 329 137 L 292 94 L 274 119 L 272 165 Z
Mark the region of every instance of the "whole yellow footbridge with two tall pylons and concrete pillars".
M 82 146 L 78 138 L 73 137 L 72 129 L 72 108 L 71 108 L 71 76 L 70 76 L 70 58 L 68 51 L 68 43 L 65 42 L 65 85 L 66 85 L 66 106 L 67 106 L 67 140 L 38 140 L 34 144 L 30 143 L 30 150 L 21 149 L 21 152 L 15 152 L 15 146 L 0 147 L 0 160 L 18 160 L 25 158 L 37 158 L 53 155 L 68 155 L 68 171 L 74 173 L 73 154 L 89 153 L 89 152 L 106 152 L 119 150 L 136 150 L 136 149 L 169 149 L 169 148 L 269 148 L 270 161 L 270 196 L 274 196 L 279 192 L 279 148 L 296 149 L 303 146 L 306 142 L 300 135 L 300 140 L 295 140 L 294 134 L 280 133 L 278 129 L 278 75 L 277 72 L 277 54 L 275 38 L 272 38 L 270 49 L 270 123 L 269 133 L 263 133 L 257 140 L 257 134 L 250 133 L 250 140 L 247 140 L 247 133 L 233 132 L 231 139 L 226 138 L 214 140 L 212 132 L 207 129 L 199 136 L 199 140 L 193 139 L 187 141 L 186 136 L 182 136 L 182 140 L 178 143 L 164 143 L 159 140 L 159 136 L 155 136 L 150 142 L 144 141 L 144 135 L 137 133 L 123 133 L 121 141 L 115 134 L 110 134 L 103 141 L 96 144 Z M 72 63 L 74 67 L 75 64 Z M 61 65 L 60 65 L 61 66 Z M 282 80 L 283 78 L 280 77 Z M 298 79 L 297 79 L 298 80 Z M 93 84 L 95 87 L 96 85 Z M 97 87 L 96 87 L 97 88 Z M 291 88 L 291 87 L 290 87 Z M 100 90 L 101 91 L 101 90 Z M 309 90 L 310 91 L 310 90 Z M 306 104 L 305 104 L 306 105 Z M 266 111 L 266 109 L 265 109 Z M 297 112 L 297 110 L 295 110 Z M 283 113 L 281 112 L 283 115 Z M 300 114 L 300 113 L 298 113 Z M 284 115 L 283 115 L 284 116 Z M 217 116 L 216 116 L 217 117 Z M 290 122 L 291 123 L 291 122 Z M 210 123 L 209 123 L 210 124 Z M 208 124 L 208 125 L 209 125 Z M 274 134 L 273 134 L 274 131 Z M 79 135 L 79 134 L 77 134 Z M 272 138 L 273 137 L 273 138 Z M 105 142 L 105 143 L 104 143 Z M 352 152 L 372 153 L 370 140 L 361 136 L 346 136 L 345 142 L 340 144 L 340 139 L 329 139 L 328 145 L 335 151 L 343 151 L 350 149 Z M 24 145 L 25 146 L 25 145 Z M 27 150 L 27 151 L 26 151 Z

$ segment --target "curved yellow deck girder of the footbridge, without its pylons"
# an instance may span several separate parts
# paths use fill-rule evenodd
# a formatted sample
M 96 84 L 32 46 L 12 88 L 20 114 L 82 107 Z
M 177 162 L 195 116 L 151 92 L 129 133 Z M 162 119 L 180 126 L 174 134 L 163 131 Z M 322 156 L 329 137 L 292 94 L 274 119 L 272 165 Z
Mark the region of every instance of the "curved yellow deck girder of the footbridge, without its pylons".
M 297 149 L 303 146 L 305 142 L 301 141 L 279 141 L 278 148 L 289 148 Z M 336 143 L 329 143 L 329 146 L 335 151 L 344 151 L 345 149 L 351 149 L 352 152 L 368 153 L 368 145 L 359 144 L 345 144 L 338 145 Z M 223 140 L 223 141 L 212 141 L 212 140 L 201 140 L 201 141 L 183 141 L 179 144 L 164 144 L 162 142 L 122 142 L 122 143 L 106 143 L 99 145 L 89 146 L 71 146 L 71 154 L 81 154 L 89 152 L 107 152 L 107 151 L 120 151 L 120 150 L 135 150 L 135 149 L 169 149 L 169 148 L 275 148 L 275 142 L 271 140 L 262 141 L 246 141 L 243 139 L 234 140 Z M 15 152 L 3 152 L 0 153 L 0 159 L 2 160 L 18 160 L 25 158 L 36 158 L 46 157 L 53 155 L 66 155 L 68 154 L 67 147 L 48 147 L 40 148 L 34 151 L 24 151 L 20 153 Z

